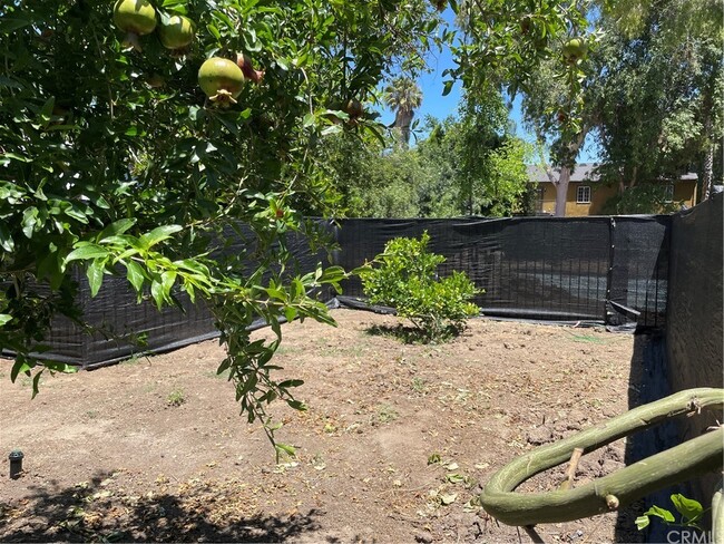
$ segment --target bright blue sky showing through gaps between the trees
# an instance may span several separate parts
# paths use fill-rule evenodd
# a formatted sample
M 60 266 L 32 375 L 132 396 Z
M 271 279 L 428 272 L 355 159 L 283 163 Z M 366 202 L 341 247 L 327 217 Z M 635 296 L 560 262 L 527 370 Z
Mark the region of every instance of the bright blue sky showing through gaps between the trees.
M 444 12 L 444 18 L 448 22 L 452 21 L 453 14 L 450 9 Z M 432 70 L 430 74 L 423 74 L 418 80 L 418 85 L 422 89 L 422 106 L 415 114 L 415 119 L 424 119 L 427 115 L 444 119 L 449 115 L 456 115 L 458 105 L 461 99 L 461 84 L 457 82 L 448 96 L 442 96 L 443 82 L 446 77 L 442 72 L 448 68 L 453 68 L 454 61 L 449 49 L 441 52 L 436 52 L 428 58 L 428 66 Z M 383 109 L 381 122 L 385 125 L 392 124 L 394 120 L 394 113 L 389 109 Z M 521 120 L 520 97 L 517 97 L 512 104 L 510 118 L 516 124 L 516 134 L 527 140 L 534 142 L 535 136 L 525 130 Z M 590 143 L 590 137 L 587 138 L 584 149 L 578 155 L 579 163 L 595 162 L 597 159 L 596 146 Z

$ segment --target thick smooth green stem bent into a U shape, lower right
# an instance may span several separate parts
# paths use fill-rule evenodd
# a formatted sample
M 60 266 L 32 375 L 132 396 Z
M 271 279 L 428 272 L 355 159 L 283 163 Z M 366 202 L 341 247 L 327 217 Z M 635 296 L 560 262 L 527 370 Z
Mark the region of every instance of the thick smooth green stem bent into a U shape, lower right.
M 724 406 L 724 389 L 681 391 L 634 408 L 569 438 L 538 447 L 491 476 L 480 494 L 486 512 L 508 525 L 559 523 L 615 511 L 663 487 L 722 467 L 724 428 L 622 468 L 575 489 L 515 493 L 531 476 L 567 462 L 574 449 L 593 451 L 635 430 L 682 414 Z

